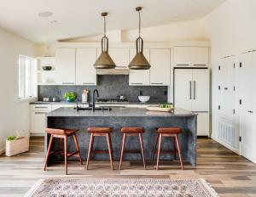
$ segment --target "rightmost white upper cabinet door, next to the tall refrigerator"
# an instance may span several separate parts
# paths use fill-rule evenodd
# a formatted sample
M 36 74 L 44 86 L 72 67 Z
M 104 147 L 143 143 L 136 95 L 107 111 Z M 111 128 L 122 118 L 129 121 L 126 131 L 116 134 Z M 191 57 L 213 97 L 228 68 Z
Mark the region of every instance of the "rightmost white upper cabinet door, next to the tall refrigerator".
M 150 48 L 150 85 L 170 85 L 170 49 Z

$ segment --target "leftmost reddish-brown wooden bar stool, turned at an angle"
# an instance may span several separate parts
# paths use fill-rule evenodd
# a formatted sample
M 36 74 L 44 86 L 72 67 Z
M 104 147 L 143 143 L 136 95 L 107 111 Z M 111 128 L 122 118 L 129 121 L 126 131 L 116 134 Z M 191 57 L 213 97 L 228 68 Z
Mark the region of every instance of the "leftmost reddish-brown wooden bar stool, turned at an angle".
M 49 160 L 49 155 L 54 154 L 54 153 L 59 153 L 61 156 L 64 155 L 65 157 L 65 173 L 67 174 L 67 158 L 71 157 L 71 156 L 78 156 L 80 163 L 83 165 L 83 160 L 81 158 L 80 155 L 80 150 L 79 150 L 79 143 L 78 143 L 78 139 L 76 136 L 76 132 L 79 130 L 76 129 L 55 129 L 55 128 L 46 128 L 45 132 L 47 132 L 48 134 L 50 134 L 50 138 L 49 138 L 49 147 L 47 150 L 47 154 L 45 157 L 45 162 L 44 162 L 44 171 L 46 170 L 47 167 L 47 163 Z M 73 153 L 67 153 L 67 138 L 73 136 L 75 145 L 76 145 L 76 151 L 74 151 Z M 60 138 L 60 148 L 56 149 L 55 151 L 50 152 L 50 149 L 52 147 L 53 144 L 53 139 L 54 138 Z M 62 150 L 62 138 L 64 139 L 64 153 Z

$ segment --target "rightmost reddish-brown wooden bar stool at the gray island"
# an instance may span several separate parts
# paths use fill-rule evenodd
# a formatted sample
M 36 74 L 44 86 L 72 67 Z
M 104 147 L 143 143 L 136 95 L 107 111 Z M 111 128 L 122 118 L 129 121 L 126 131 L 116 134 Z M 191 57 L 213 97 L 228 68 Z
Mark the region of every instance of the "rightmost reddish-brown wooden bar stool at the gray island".
M 153 152 L 152 159 L 154 160 L 154 154 L 156 152 L 157 145 L 158 145 L 156 170 L 159 169 L 160 146 L 161 146 L 162 137 L 171 137 L 172 138 L 174 150 L 173 151 L 166 151 L 166 152 L 173 152 L 174 157 L 176 157 L 176 152 L 177 152 L 178 157 L 179 157 L 179 161 L 180 161 L 180 165 L 181 165 L 181 168 L 183 170 L 183 160 L 182 160 L 180 146 L 179 146 L 178 137 L 177 137 L 177 134 L 182 132 L 181 128 L 178 128 L 178 127 L 160 127 L 160 128 L 155 128 L 155 130 L 157 132 L 157 138 L 156 138 L 156 142 L 155 142 L 155 145 L 154 145 L 154 152 Z

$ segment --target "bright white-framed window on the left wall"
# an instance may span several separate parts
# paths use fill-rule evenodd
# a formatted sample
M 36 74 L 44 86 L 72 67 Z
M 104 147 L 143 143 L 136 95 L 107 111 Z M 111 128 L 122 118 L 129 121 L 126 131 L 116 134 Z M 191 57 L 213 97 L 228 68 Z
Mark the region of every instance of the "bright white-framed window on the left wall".
M 36 59 L 19 55 L 19 99 L 36 97 Z

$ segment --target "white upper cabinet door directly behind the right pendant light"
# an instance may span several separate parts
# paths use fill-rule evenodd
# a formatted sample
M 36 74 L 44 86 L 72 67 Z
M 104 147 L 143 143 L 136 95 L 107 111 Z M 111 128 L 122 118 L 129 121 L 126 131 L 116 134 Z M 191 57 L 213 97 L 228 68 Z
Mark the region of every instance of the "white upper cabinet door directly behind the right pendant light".
M 136 54 L 136 48 L 130 48 L 130 62 Z M 144 48 L 143 54 L 149 62 L 149 49 Z M 129 85 L 130 86 L 149 86 L 149 70 L 130 70 Z

